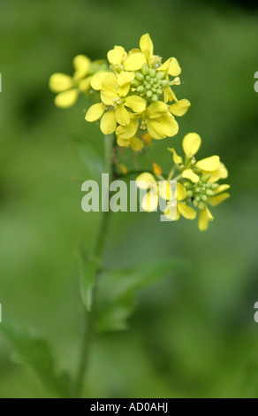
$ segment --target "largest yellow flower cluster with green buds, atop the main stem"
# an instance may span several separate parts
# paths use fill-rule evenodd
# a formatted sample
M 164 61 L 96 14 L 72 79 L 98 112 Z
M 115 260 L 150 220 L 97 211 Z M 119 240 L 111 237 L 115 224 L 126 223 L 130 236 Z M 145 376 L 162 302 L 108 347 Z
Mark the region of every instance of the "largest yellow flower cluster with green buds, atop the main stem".
M 143 147 L 147 133 L 156 140 L 177 135 L 175 116 L 183 116 L 190 106 L 186 99 L 178 101 L 171 89 L 180 83 L 177 59 L 162 63 L 146 34 L 140 38 L 140 49 L 127 53 L 115 46 L 108 60 L 110 72 L 95 73 L 90 81 L 92 89 L 100 92 L 101 102 L 88 109 L 86 120 L 101 119 L 104 135 L 116 132 L 118 145 L 133 150 Z

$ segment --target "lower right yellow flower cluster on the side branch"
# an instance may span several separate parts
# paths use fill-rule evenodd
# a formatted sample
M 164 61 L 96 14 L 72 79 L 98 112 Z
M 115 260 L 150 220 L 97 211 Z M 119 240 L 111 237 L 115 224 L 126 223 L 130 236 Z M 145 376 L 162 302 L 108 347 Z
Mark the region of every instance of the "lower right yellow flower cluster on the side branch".
M 185 158 L 178 156 L 174 149 L 168 149 L 172 152 L 174 166 L 171 173 L 159 187 L 158 182 L 151 173 L 141 173 L 137 178 L 139 188 L 149 189 L 147 195 L 143 198 L 141 207 L 147 212 L 156 211 L 158 198 L 161 196 L 167 201 L 164 215 L 169 220 L 178 220 L 182 215 L 187 220 L 194 220 L 199 211 L 199 228 L 204 231 L 209 226 L 209 221 L 214 220 L 210 206 L 216 206 L 222 203 L 230 195 L 226 192 L 229 185 L 219 184 L 218 181 L 226 179 L 228 172 L 218 156 L 211 156 L 196 161 L 194 155 L 200 149 L 201 137 L 196 133 L 189 133 L 184 137 L 183 150 Z M 173 174 L 178 170 L 180 173 L 173 178 Z M 164 178 L 158 175 L 158 179 Z M 173 195 L 169 181 L 177 181 L 177 216 L 173 218 L 174 205 L 171 202 Z M 194 209 L 195 208 L 195 209 Z

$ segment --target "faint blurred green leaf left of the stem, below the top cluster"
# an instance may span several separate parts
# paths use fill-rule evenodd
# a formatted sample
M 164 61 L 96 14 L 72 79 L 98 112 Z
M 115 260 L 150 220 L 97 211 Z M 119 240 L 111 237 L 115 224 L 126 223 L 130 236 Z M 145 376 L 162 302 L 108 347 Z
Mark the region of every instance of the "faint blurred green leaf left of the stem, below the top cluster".
M 95 149 L 94 145 L 87 140 L 87 137 L 74 135 L 69 136 L 69 138 L 76 143 L 80 158 L 87 169 L 89 177 L 95 181 L 99 181 L 104 168 L 102 155 Z

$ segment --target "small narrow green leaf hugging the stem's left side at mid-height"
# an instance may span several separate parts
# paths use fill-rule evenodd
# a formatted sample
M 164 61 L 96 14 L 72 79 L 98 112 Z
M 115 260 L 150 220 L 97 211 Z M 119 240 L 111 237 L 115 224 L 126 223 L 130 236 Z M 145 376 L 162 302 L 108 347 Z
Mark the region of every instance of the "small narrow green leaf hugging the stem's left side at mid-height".
M 90 312 L 97 264 L 94 260 L 83 256 L 80 250 L 77 251 L 77 258 L 80 267 L 80 294 L 87 311 Z

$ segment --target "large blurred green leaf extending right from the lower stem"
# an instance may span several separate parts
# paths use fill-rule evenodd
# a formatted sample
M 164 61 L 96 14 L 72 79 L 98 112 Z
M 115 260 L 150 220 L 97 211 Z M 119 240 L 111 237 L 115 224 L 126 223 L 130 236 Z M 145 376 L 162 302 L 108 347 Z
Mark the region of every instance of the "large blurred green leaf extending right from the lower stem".
M 97 332 L 119 331 L 135 308 L 137 292 L 179 265 L 175 258 L 160 258 L 125 270 L 102 273 L 95 304 Z

